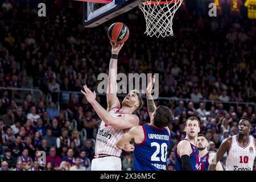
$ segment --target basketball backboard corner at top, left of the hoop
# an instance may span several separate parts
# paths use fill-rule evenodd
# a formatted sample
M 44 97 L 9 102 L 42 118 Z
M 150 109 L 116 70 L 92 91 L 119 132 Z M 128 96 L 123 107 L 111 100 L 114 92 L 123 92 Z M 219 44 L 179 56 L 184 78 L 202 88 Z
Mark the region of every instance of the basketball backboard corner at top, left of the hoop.
M 147 0 L 106 0 L 109 3 L 83 2 L 84 6 L 84 26 L 96 27 L 115 16 L 126 13 L 134 7 L 141 5 Z

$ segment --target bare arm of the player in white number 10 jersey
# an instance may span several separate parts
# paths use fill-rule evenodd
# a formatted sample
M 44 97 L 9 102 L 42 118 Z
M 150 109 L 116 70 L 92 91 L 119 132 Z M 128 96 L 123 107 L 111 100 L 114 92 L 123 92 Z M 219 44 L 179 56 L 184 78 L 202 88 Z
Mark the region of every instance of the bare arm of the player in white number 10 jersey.
M 222 159 L 222 156 L 225 154 L 225 152 L 229 150 L 230 145 L 231 138 L 228 138 L 221 143 L 221 146 L 220 148 L 218 148 L 217 153 L 214 154 L 212 160 L 209 161 L 210 165 L 208 171 L 214 171 L 216 169 L 217 163 Z

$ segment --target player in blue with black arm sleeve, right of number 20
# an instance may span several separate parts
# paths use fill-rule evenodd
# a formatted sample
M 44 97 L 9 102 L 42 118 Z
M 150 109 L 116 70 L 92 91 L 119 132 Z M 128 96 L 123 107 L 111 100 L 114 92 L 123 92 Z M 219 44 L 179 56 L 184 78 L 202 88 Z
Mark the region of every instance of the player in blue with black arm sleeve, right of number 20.
M 177 144 L 175 171 L 200 171 L 200 155 L 196 147 L 200 122 L 190 117 L 185 123 L 186 137 Z

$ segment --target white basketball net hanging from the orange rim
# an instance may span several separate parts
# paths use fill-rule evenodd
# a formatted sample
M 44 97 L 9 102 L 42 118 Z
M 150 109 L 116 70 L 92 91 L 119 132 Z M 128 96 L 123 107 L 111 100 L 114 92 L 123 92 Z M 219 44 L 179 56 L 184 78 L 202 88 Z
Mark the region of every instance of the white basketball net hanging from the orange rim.
M 155 0 L 146 1 L 139 5 L 146 19 L 146 32 L 148 36 L 156 36 L 163 38 L 173 36 L 172 19 L 179 9 L 183 0 Z

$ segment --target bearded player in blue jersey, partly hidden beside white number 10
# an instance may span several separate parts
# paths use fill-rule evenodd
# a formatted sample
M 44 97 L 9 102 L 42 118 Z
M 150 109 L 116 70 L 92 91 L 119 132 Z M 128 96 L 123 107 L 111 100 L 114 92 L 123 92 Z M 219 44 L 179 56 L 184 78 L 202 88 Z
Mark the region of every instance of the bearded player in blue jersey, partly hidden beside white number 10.
M 203 134 L 199 134 L 197 137 L 196 147 L 198 148 L 199 154 L 201 157 L 200 159 L 201 171 L 208 171 L 209 162 L 212 161 L 213 156 L 215 154 L 215 152 L 213 151 L 209 152 L 207 150 L 208 146 L 209 146 L 209 140 L 207 139 L 207 137 L 205 137 L 205 135 Z M 217 163 L 216 171 L 223 171 L 223 168 L 220 162 Z

